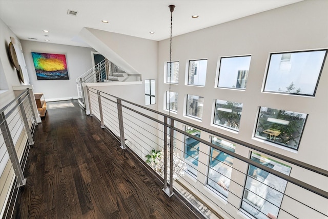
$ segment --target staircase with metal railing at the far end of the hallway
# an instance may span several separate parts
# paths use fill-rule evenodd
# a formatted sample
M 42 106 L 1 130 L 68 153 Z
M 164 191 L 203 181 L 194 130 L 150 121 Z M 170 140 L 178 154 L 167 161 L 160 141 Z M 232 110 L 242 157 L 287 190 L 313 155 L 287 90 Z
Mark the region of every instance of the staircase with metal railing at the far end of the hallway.
M 113 83 L 113 82 L 141 81 L 141 74 L 125 72 L 107 58 L 89 69 L 86 73 L 76 78 L 78 101 L 85 107 L 83 87 L 89 83 Z

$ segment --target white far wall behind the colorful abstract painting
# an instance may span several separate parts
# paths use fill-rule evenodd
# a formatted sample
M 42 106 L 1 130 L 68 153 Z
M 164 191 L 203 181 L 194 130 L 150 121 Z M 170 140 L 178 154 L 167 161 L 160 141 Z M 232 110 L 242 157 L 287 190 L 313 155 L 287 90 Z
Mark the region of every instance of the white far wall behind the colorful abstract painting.
M 77 98 L 76 78 L 92 68 L 92 48 L 22 40 L 30 83 L 34 93 L 44 93 L 46 101 Z M 69 80 L 38 81 L 31 52 L 65 54 Z

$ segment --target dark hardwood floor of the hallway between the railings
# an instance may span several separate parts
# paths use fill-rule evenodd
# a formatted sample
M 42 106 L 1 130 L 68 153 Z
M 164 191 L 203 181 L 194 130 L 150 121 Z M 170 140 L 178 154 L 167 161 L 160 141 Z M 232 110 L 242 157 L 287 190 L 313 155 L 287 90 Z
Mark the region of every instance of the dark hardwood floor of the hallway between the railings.
M 57 103 L 75 107 L 36 127 L 13 218 L 199 218 L 76 101 Z

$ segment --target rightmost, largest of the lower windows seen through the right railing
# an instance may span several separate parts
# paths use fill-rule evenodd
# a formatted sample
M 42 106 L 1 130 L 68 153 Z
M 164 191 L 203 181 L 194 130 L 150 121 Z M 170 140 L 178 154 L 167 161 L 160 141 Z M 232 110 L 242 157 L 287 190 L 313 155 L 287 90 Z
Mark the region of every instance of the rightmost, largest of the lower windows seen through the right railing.
M 252 152 L 251 160 L 289 175 L 291 167 Z M 287 181 L 260 168 L 249 165 L 241 208 L 255 218 L 278 216 Z

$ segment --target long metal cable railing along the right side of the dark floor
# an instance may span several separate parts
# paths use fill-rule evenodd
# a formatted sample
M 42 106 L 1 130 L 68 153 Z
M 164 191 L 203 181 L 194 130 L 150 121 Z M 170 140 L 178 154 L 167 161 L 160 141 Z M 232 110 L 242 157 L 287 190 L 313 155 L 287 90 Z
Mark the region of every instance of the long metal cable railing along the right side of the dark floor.
M 204 216 L 328 217 L 328 192 L 290 176 L 296 168 L 327 181 L 327 170 L 94 88 L 87 87 L 87 92 L 90 113 L 101 127 L 150 164 L 169 196 L 174 189 Z M 250 156 L 236 153 L 237 147 L 247 148 Z

